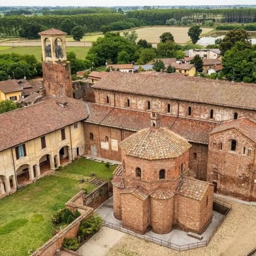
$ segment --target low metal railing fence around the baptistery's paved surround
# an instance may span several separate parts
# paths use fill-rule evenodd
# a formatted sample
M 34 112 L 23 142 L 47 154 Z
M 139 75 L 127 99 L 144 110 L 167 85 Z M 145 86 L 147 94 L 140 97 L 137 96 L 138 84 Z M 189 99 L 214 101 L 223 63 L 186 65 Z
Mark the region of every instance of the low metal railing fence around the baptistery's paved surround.
M 159 244 L 159 245 L 165 246 L 165 247 L 173 249 L 175 251 L 187 251 L 187 250 L 197 249 L 199 247 L 207 246 L 210 243 L 210 241 L 211 241 L 212 237 L 214 236 L 214 234 L 217 232 L 217 230 L 219 229 L 219 227 L 221 226 L 223 221 L 227 218 L 228 214 L 230 213 L 230 211 L 232 209 L 232 205 L 231 204 L 225 203 L 225 202 L 223 202 L 223 201 L 221 201 L 221 200 L 219 200 L 217 198 L 213 199 L 213 203 L 215 204 L 216 209 L 218 207 L 220 207 L 221 211 L 226 210 L 225 214 L 223 214 L 224 218 L 219 222 L 218 226 L 212 231 L 212 234 L 210 235 L 210 237 L 206 241 L 201 241 L 201 242 L 192 243 L 192 244 L 177 245 L 177 244 L 173 244 L 173 243 L 170 243 L 170 242 L 167 242 L 167 241 L 164 241 L 162 239 L 159 239 L 159 238 L 156 238 L 156 237 L 153 237 L 153 236 L 149 236 L 149 235 L 146 235 L 146 234 L 144 234 L 144 235 L 138 234 L 138 233 L 136 233 L 136 232 L 134 232 L 132 230 L 129 230 L 127 228 L 123 228 L 122 226 L 115 225 L 115 224 L 107 222 L 107 221 L 103 221 L 103 224 L 106 227 L 119 230 L 119 231 L 121 231 L 123 233 L 126 233 L 128 235 L 132 235 L 132 236 L 135 236 L 135 237 L 139 237 L 139 238 L 145 239 L 147 241 L 150 241 L 150 242 L 153 242 L 155 244 Z

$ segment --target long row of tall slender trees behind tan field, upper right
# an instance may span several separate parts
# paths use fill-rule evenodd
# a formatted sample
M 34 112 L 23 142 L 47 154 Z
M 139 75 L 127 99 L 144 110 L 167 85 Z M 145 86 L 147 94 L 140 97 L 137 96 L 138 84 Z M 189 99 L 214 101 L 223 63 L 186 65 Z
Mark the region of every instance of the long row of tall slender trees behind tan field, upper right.
M 183 17 L 202 22 L 211 19 L 216 22 L 256 22 L 256 9 L 165 9 L 139 10 L 126 13 L 127 18 L 140 19 L 147 25 L 164 25 L 166 20 L 181 20 Z

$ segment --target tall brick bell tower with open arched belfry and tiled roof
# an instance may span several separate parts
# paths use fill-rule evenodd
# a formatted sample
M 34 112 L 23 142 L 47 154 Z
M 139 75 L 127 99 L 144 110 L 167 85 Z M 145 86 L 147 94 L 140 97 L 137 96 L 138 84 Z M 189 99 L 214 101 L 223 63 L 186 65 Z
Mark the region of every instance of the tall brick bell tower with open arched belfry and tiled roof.
M 38 35 L 41 36 L 42 42 L 42 68 L 46 95 L 73 98 L 71 68 L 66 55 L 67 33 L 51 28 Z

